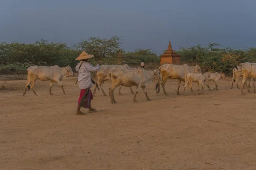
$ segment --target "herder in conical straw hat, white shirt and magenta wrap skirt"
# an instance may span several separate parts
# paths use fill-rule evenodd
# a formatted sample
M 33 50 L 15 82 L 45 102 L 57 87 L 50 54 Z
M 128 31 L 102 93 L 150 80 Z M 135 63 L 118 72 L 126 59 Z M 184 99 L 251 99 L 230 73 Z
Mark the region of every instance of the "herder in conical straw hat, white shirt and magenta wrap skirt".
M 76 110 L 77 114 L 84 114 L 80 111 L 81 108 L 87 108 L 90 112 L 95 111 L 95 109 L 91 107 L 91 100 L 93 99 L 93 94 L 90 90 L 90 88 L 92 87 L 92 79 L 90 72 L 98 71 L 99 64 L 97 64 L 96 67 L 90 65 L 89 60 L 92 57 L 94 56 L 83 51 L 80 54 L 80 56 L 76 58 L 76 60 L 81 60 L 79 64 L 76 65 L 76 71 L 79 72 L 77 79 L 80 88 L 80 96 Z

